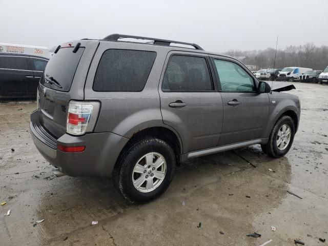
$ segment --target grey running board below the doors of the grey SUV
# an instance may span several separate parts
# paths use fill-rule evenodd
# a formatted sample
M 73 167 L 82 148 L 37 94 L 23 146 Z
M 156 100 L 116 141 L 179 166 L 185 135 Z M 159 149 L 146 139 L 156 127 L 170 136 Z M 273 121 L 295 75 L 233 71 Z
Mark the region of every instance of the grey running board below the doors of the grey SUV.
M 257 138 L 257 139 L 253 139 L 253 140 L 237 142 L 236 144 L 213 147 L 213 148 L 204 149 L 204 150 L 197 150 L 197 151 L 189 152 L 187 154 L 187 159 L 195 158 L 195 157 L 199 157 L 199 156 L 203 156 L 203 155 L 215 154 L 215 153 L 238 149 L 238 148 L 243 148 L 243 147 L 247 147 L 250 145 L 264 144 L 267 141 L 268 141 L 268 138 Z

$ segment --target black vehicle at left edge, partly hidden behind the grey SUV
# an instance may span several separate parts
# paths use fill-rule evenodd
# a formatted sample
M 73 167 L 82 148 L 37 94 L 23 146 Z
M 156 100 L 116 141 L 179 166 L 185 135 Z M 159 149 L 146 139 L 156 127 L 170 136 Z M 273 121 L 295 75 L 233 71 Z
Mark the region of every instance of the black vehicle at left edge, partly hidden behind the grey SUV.
M 0 53 L 0 99 L 35 98 L 47 63 L 35 55 Z

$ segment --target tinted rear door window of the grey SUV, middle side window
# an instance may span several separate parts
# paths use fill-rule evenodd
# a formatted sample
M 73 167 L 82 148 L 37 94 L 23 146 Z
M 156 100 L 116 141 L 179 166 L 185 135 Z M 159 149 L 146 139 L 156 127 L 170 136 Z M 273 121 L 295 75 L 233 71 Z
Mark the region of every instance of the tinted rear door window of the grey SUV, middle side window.
M 203 57 L 173 55 L 166 68 L 163 91 L 213 90 L 209 68 Z

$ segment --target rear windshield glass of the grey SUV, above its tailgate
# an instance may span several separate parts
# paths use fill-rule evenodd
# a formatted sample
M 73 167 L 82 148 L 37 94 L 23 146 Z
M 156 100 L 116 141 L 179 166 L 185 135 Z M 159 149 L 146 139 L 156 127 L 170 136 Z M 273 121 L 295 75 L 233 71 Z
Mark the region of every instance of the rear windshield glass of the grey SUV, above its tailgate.
M 50 58 L 44 78 L 40 83 L 58 91 L 69 91 L 73 77 L 85 48 L 79 48 L 73 53 L 72 48 L 61 48 Z M 61 88 L 60 88 L 61 87 Z

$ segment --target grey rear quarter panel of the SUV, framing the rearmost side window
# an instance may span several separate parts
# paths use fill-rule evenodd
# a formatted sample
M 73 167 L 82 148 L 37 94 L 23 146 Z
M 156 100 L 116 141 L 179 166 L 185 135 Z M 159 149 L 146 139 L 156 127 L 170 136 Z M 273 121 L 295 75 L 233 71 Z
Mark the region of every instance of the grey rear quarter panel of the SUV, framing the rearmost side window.
M 156 58 L 144 90 L 140 92 L 93 91 L 93 80 L 99 60 L 108 49 L 156 52 Z M 124 42 L 100 42 L 93 58 L 85 87 L 85 99 L 99 100 L 101 103 L 94 132 L 112 132 L 131 138 L 134 133 L 146 128 L 167 127 L 162 121 L 158 94 L 158 83 L 167 53 L 165 49 L 158 49 L 156 46 L 127 44 Z

